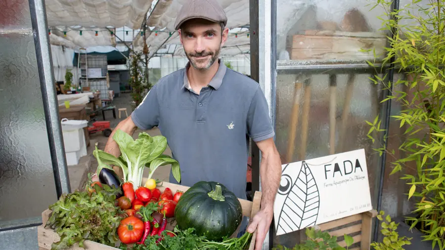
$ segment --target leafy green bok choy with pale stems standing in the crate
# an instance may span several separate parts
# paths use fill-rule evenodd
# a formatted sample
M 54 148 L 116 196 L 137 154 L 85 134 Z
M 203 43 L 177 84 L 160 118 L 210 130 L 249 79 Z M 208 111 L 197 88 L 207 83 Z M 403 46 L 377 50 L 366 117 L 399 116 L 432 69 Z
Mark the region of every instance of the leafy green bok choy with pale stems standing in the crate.
M 103 167 L 112 169 L 109 165 L 121 167 L 124 173 L 124 182 L 132 182 L 134 190 L 136 190 L 141 185 L 145 166 L 150 167 L 148 178 L 151 178 L 156 168 L 171 164 L 173 176 L 178 182 L 180 181 L 181 172 L 178 161 L 163 154 L 167 148 L 167 138 L 164 136 L 151 137 L 146 132 L 142 132 L 134 140 L 126 132 L 117 129 L 113 139 L 119 145 L 121 156 L 116 158 L 96 147 L 93 155 L 99 163 L 98 171 Z

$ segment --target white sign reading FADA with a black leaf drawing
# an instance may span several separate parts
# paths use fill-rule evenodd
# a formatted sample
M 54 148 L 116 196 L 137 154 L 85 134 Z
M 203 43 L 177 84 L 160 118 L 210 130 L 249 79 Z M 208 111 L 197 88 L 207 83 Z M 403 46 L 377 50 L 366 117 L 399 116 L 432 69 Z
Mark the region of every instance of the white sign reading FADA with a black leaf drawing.
M 276 235 L 371 209 L 364 149 L 282 166 L 273 211 Z

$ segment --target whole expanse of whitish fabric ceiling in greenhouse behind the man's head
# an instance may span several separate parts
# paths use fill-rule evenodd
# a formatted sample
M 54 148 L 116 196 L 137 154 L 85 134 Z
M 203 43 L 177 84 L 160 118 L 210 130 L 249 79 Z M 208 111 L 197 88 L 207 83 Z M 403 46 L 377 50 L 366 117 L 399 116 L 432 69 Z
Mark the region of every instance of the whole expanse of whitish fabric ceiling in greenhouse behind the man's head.
M 120 42 L 119 39 L 111 36 L 105 27 L 127 26 L 136 29 L 133 44 L 136 50 L 141 50 L 143 40 L 139 28 L 142 24 L 143 15 L 150 9 L 150 6 L 156 6 L 150 14 L 147 25 L 152 27 L 151 29 L 164 32 L 158 32 L 156 36 L 155 32 L 147 31 L 146 42 L 150 50 L 149 56 L 151 56 L 163 44 L 180 44 L 178 33 L 174 31 L 174 23 L 178 11 L 186 2 L 187 0 L 158 0 L 157 2 L 156 0 L 46 0 L 48 23 L 50 26 L 54 26 L 50 27 L 50 42 L 54 45 L 63 45 L 75 49 L 90 46 L 115 46 L 116 42 Z M 249 23 L 249 0 L 220 0 L 220 4 L 227 14 L 227 27 L 229 29 Z M 134 11 L 135 7 L 138 7 L 140 11 Z M 145 8 L 145 12 L 141 8 Z M 124 19 L 128 19 L 128 22 L 126 23 Z M 140 22 L 137 23 L 136 20 L 140 20 Z M 70 30 L 63 25 L 82 25 L 84 27 L 95 25 L 102 28 L 82 27 L 77 30 Z M 65 37 L 63 31 L 67 30 L 69 31 Z M 82 35 L 80 35 L 80 30 L 83 30 Z M 98 36 L 95 36 L 95 32 L 90 30 L 97 30 Z M 171 37 L 169 33 L 172 33 Z M 129 31 L 129 35 L 125 34 L 122 28 L 116 29 L 116 35 L 125 41 L 128 41 L 129 36 L 133 36 L 133 31 Z M 241 51 L 243 53 L 249 51 L 248 44 L 250 42 L 247 34 L 241 35 L 239 33 L 237 39 L 234 37 L 234 34 L 230 35 L 229 41 L 221 51 L 222 55 L 236 55 Z M 241 41 L 242 37 L 246 41 Z M 231 41 L 237 43 L 238 47 L 233 44 L 230 45 Z M 183 50 L 180 49 L 180 46 L 178 48 L 175 55 L 183 56 Z

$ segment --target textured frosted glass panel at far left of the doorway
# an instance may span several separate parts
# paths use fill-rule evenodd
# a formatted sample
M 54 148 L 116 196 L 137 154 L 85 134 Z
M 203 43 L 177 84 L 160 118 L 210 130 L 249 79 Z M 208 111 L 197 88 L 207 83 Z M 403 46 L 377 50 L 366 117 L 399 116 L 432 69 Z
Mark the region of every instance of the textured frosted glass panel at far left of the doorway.
M 28 1 L 0 6 L 0 228 L 8 228 L 38 222 L 57 197 Z

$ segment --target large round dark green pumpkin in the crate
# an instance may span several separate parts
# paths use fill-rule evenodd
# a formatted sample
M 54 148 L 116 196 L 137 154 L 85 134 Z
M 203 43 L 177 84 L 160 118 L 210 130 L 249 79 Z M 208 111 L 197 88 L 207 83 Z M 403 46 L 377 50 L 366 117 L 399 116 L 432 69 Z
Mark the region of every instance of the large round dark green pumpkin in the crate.
M 229 237 L 241 223 L 243 212 L 235 194 L 218 182 L 200 181 L 190 187 L 175 208 L 179 229 L 194 228 L 208 240 Z

